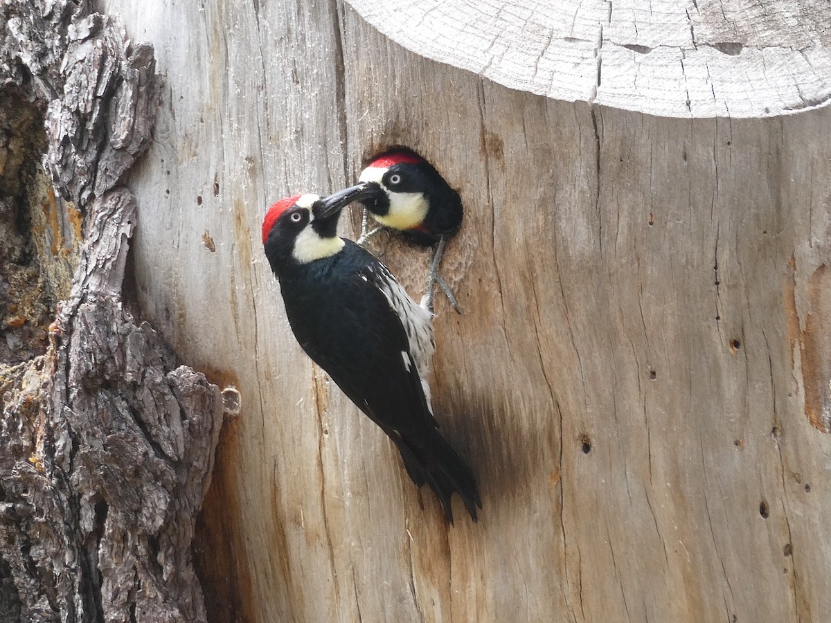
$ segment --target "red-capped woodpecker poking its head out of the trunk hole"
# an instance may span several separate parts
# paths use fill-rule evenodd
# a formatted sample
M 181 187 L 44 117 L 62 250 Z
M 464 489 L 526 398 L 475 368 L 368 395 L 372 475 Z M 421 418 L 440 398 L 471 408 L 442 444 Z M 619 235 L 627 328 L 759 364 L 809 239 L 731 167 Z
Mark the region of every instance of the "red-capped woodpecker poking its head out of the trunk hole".
M 366 194 L 361 204 L 378 223 L 400 230 L 416 244 L 433 247 L 426 294 L 430 311 L 433 285 L 437 284 L 459 312 L 450 286 L 439 275 L 447 238 L 454 236 L 462 224 L 464 211 L 459 193 L 450 188 L 432 164 L 403 147 L 377 155 L 361 171 L 358 181 L 371 184 L 373 192 Z M 379 229 L 366 233 L 365 221 L 358 243 L 366 242 Z

